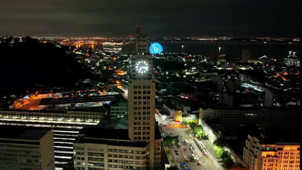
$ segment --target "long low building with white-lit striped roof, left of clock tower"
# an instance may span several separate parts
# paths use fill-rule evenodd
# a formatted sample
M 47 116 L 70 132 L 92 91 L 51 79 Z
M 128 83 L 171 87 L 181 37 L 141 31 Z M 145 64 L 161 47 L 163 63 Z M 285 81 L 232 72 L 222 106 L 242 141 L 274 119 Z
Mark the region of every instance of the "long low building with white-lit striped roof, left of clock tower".
M 73 157 L 73 142 L 85 126 L 97 125 L 105 113 L 79 111 L 1 110 L 0 124 L 53 129 L 56 170 L 62 170 Z

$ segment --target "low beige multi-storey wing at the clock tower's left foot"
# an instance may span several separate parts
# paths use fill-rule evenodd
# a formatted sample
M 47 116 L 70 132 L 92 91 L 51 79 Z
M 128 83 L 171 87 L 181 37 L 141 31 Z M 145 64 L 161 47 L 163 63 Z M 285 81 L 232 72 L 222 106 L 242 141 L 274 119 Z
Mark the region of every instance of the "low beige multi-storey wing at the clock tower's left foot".
M 146 169 L 147 144 L 131 142 L 126 129 L 83 128 L 74 143 L 74 168 Z

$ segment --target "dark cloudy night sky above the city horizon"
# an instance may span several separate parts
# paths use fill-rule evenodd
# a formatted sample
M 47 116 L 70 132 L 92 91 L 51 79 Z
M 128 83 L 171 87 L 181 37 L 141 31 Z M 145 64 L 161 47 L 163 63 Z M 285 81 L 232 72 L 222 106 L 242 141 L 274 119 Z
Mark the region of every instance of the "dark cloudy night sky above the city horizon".
M 299 36 L 299 0 L 3 0 L 0 36 Z

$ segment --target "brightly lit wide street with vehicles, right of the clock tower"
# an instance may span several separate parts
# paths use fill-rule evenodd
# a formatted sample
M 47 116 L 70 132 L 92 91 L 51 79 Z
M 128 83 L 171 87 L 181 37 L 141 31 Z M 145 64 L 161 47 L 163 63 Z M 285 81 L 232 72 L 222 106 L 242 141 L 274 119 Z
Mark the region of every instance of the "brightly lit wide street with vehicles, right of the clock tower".
M 203 156 L 199 147 L 193 140 L 195 136 L 193 136 L 191 132 L 192 130 L 190 128 L 186 128 L 184 124 L 175 124 L 173 121 L 162 120 L 158 115 L 156 115 L 156 119 L 158 120 L 159 124 L 161 124 L 163 136 L 179 136 L 180 146 L 177 146 L 177 144 L 175 144 L 174 148 L 170 148 L 171 157 L 174 159 L 174 162 L 181 164 L 185 162 L 185 160 L 189 160 L 190 162 L 188 163 L 188 167 L 193 170 L 224 170 L 221 164 L 218 163 L 217 160 L 215 160 L 215 157 L 213 155 L 213 147 L 208 140 L 202 141 L 202 144 L 206 147 L 208 153 L 208 157 L 206 158 L 205 156 Z M 164 125 L 167 126 L 165 127 Z M 188 140 L 189 144 L 193 146 L 193 150 L 190 150 L 189 145 L 185 145 L 184 140 Z M 196 162 L 191 159 L 192 153 L 196 155 L 198 159 Z M 201 165 L 198 165 L 198 161 L 201 162 Z M 174 162 L 172 162 L 172 165 L 174 165 Z

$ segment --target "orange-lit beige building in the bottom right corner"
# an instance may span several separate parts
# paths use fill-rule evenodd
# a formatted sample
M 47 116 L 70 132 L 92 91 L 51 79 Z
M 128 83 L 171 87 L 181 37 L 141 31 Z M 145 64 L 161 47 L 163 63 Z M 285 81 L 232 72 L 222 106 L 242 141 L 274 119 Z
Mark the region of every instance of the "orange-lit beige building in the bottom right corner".
M 262 135 L 263 136 L 263 135 Z M 263 136 L 264 137 L 264 136 Z M 277 143 L 248 135 L 243 162 L 251 170 L 299 170 L 300 143 Z

